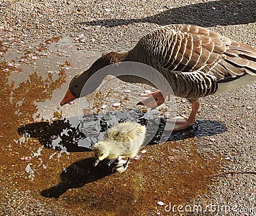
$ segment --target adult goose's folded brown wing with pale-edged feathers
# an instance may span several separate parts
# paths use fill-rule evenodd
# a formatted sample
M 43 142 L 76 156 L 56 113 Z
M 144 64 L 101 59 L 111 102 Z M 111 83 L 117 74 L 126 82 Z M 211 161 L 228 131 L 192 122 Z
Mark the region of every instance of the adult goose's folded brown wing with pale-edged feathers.
M 143 44 L 144 43 L 144 44 Z M 141 45 L 159 65 L 171 71 L 214 75 L 228 82 L 256 75 L 256 50 L 199 26 L 164 26 L 141 38 Z

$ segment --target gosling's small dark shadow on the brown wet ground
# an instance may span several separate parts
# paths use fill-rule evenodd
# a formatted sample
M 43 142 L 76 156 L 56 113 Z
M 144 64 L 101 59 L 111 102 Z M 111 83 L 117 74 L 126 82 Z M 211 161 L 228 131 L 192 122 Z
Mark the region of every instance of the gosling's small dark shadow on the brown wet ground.
M 113 169 L 109 169 L 107 160 L 100 162 L 96 167 L 92 166 L 93 158 L 79 160 L 70 165 L 60 174 L 61 181 L 50 189 L 45 189 L 41 192 L 44 197 L 58 198 L 68 189 L 83 187 L 86 183 L 100 180 L 112 173 Z

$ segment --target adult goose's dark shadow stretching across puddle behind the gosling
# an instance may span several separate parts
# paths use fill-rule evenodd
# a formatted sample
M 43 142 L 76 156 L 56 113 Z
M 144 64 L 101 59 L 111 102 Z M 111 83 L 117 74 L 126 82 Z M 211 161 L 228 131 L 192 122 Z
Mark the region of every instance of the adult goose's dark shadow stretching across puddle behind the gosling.
M 66 148 L 67 151 L 92 151 L 94 143 L 102 139 L 108 128 L 123 121 L 137 121 L 147 127 L 145 144 L 203 137 L 227 131 L 227 127 L 218 121 L 198 120 L 198 125 L 170 134 L 164 131 L 163 118 L 148 117 L 147 114 L 138 110 L 104 114 L 100 112 L 83 116 L 82 120 L 76 116 L 70 119 L 22 125 L 18 128 L 18 132 L 20 135 L 38 138 L 43 146 L 52 150 Z

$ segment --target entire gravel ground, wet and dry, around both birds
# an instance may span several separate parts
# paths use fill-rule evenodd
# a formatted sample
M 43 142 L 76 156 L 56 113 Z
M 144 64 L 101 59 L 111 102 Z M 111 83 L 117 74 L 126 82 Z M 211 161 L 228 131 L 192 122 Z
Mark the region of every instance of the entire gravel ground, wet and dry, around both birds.
M 255 84 L 203 98 L 198 125 L 165 134 L 165 143 L 159 143 L 164 114 L 170 107 L 179 114 L 191 111 L 181 98 L 166 102 L 160 115 L 148 119 L 145 107 L 134 104 L 143 89 L 152 89 L 108 78 L 113 86 L 87 96 L 85 106 L 75 101 L 60 107 L 70 79 L 92 65 L 99 50 L 129 50 L 158 25 L 211 27 L 256 47 L 254 8 L 251 0 L 140 1 L 139 6 L 138 1 L 99 1 L 95 6 L 79 0 L 3 0 L 0 214 L 221 215 L 221 210 L 211 212 L 211 204 L 221 201 L 254 208 L 253 213 L 226 215 L 255 215 L 255 174 L 214 176 L 255 171 Z M 109 116 L 115 118 L 109 121 Z M 113 172 L 107 161 L 93 167 L 93 143 L 127 119 L 150 122 L 149 144 L 122 174 Z M 209 211 L 164 210 L 173 204 L 196 204 Z

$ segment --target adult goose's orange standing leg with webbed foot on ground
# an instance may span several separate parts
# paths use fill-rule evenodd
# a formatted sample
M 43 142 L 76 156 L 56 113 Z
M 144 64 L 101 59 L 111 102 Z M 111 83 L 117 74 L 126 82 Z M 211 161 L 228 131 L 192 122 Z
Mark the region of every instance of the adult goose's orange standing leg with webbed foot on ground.
M 189 117 L 187 116 L 177 116 L 175 118 L 168 118 L 166 122 L 166 130 L 183 130 L 185 128 L 191 127 L 193 123 L 196 123 L 196 114 L 199 109 L 199 102 L 192 104 L 192 111 Z M 174 127 L 173 127 L 174 125 Z

